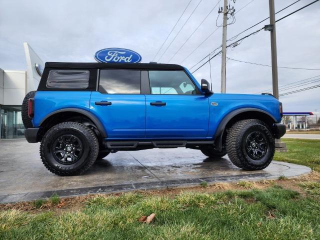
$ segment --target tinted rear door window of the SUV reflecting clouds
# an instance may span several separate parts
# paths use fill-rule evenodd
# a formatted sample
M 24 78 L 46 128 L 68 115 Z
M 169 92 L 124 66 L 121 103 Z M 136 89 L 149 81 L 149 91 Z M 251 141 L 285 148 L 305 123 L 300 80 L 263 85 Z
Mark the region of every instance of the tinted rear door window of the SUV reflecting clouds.
M 140 75 L 140 70 L 100 70 L 99 92 L 109 94 L 140 94 Z

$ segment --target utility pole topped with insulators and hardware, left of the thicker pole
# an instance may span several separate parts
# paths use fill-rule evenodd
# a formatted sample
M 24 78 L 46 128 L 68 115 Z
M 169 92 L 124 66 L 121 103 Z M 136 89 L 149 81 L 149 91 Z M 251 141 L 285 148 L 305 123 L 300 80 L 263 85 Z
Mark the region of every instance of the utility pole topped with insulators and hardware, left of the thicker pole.
M 233 0 L 233 3 L 235 0 Z M 221 50 L 221 93 L 225 93 L 225 78 L 226 78 L 226 27 L 228 21 L 228 14 L 232 15 L 235 9 L 230 4 L 228 5 L 227 0 L 224 0 L 223 9 L 219 8 L 218 13 L 223 13 L 222 23 L 222 50 Z

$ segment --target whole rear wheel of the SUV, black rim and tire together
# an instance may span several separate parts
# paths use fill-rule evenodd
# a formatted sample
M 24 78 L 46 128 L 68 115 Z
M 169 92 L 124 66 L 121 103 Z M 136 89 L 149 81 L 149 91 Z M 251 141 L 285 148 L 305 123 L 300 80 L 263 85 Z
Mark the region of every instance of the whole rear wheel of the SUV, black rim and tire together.
M 45 167 L 54 174 L 78 175 L 88 169 L 99 153 L 94 132 L 78 122 L 62 122 L 43 136 L 40 156 Z

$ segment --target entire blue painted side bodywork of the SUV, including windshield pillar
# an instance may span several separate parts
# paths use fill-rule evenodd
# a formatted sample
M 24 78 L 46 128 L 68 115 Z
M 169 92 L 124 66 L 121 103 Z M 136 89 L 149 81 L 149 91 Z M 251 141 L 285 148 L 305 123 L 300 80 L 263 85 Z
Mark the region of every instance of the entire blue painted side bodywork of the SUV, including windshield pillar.
M 200 84 L 185 68 L 200 89 Z M 110 101 L 111 105 L 95 102 Z M 165 105 L 150 105 L 162 101 Z M 214 102 L 214 103 L 213 103 Z M 212 104 L 213 103 L 213 104 Z M 37 91 L 33 126 L 51 112 L 79 108 L 92 113 L 103 125 L 108 140 L 214 139 L 222 119 L 239 108 L 266 111 L 281 120 L 279 101 L 270 95 L 220 94 L 104 94 L 98 91 Z

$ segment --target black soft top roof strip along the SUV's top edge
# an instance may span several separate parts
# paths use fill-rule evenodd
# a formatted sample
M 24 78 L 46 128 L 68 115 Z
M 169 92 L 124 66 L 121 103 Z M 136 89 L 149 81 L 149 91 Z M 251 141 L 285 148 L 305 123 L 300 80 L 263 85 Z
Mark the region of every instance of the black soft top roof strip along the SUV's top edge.
M 104 62 L 45 62 L 45 67 L 52 68 L 117 68 L 117 69 L 155 69 L 183 70 L 183 66 L 163 63 L 104 63 Z

